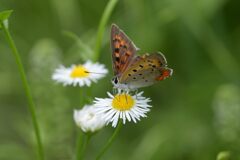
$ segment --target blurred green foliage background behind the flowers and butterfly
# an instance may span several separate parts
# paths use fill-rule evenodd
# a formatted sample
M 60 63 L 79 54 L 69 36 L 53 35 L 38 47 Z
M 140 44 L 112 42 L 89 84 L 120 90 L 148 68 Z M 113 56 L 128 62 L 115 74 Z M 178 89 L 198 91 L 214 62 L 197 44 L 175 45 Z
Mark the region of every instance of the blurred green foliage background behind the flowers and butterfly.
M 82 62 L 83 49 L 71 31 L 92 49 L 107 0 L 1 0 L 13 9 L 10 31 L 21 54 L 41 127 L 47 160 L 75 156 L 79 88 L 51 80 L 59 64 Z M 171 78 L 144 88 L 153 108 L 148 118 L 127 123 L 104 155 L 106 160 L 212 160 L 221 151 L 240 159 L 240 1 L 121 0 L 104 33 L 100 62 L 111 71 L 92 86 L 92 97 L 112 91 L 109 30 L 118 24 L 141 48 L 161 51 Z M 0 32 L 0 159 L 32 160 L 36 143 L 21 79 Z M 111 136 L 105 127 L 91 140 L 94 159 Z

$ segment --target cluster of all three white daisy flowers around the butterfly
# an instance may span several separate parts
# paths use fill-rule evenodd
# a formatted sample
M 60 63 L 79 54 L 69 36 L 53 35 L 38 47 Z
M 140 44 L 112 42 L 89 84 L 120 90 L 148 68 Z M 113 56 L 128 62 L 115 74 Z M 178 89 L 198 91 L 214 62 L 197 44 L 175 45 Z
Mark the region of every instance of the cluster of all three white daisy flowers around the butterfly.
M 52 79 L 64 86 L 90 87 L 107 73 L 108 70 L 103 64 L 87 61 L 69 68 L 59 66 Z M 74 121 L 83 132 L 95 132 L 109 123 L 116 127 L 120 120 L 123 124 L 126 121 L 136 123 L 150 111 L 151 106 L 148 103 L 151 100 L 143 97 L 143 92 L 132 95 L 118 91 L 116 94 L 107 92 L 107 95 L 108 98 L 95 98 L 92 104 L 74 110 Z

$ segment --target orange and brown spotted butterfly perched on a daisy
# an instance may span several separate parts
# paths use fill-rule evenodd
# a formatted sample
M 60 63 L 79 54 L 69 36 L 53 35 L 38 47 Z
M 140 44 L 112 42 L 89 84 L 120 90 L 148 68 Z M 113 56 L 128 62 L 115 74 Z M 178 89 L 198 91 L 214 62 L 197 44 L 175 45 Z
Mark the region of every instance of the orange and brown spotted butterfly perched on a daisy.
M 111 48 L 114 77 L 112 83 L 121 90 L 136 90 L 170 77 L 165 56 L 158 52 L 136 55 L 139 50 L 116 25 L 111 27 Z

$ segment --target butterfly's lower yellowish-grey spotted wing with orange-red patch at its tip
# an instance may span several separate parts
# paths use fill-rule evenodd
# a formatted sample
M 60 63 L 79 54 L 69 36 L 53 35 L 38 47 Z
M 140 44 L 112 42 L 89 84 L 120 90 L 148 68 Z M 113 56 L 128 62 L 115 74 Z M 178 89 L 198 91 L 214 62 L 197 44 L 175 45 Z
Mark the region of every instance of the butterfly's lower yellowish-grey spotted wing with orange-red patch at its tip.
M 150 86 L 172 75 L 172 69 L 167 67 L 163 54 L 154 53 L 137 57 L 134 63 L 120 78 L 120 83 L 126 84 L 130 89 Z

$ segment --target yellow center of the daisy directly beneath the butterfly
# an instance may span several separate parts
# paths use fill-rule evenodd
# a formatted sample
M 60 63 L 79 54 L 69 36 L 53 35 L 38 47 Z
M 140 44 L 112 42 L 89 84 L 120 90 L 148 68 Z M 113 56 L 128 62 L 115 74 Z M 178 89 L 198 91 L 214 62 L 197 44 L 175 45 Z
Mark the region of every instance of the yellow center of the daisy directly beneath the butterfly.
M 120 111 L 130 110 L 134 104 L 135 100 L 128 94 L 118 94 L 112 101 L 113 108 Z

